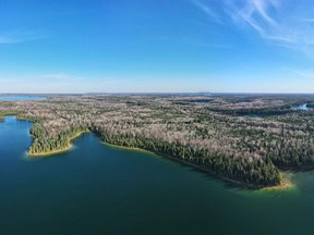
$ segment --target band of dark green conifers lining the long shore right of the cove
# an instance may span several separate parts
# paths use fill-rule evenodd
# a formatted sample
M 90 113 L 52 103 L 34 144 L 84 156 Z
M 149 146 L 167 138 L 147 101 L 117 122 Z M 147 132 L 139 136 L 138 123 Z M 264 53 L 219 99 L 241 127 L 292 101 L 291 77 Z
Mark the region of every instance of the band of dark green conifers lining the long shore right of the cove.
M 92 128 L 109 144 L 141 148 L 193 164 L 221 177 L 251 186 L 271 186 L 280 184 L 280 174 L 269 158 L 237 158 L 205 148 L 193 148 L 179 143 L 147 138 L 128 134 L 112 134 L 104 128 Z

